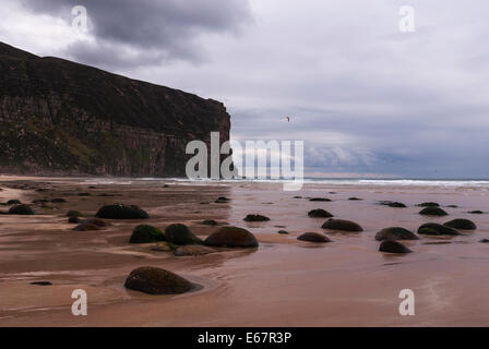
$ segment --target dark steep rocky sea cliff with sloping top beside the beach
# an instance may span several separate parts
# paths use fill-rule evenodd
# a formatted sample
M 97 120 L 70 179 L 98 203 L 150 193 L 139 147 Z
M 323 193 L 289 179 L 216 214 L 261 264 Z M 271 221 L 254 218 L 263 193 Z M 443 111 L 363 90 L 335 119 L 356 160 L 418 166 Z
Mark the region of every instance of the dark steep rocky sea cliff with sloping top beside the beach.
M 0 43 L 0 170 L 184 176 L 188 142 L 229 140 L 223 104 Z

